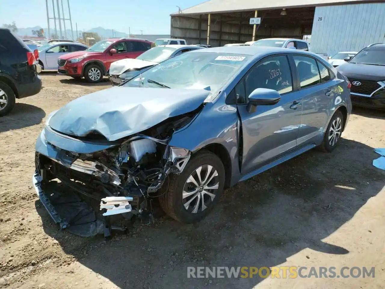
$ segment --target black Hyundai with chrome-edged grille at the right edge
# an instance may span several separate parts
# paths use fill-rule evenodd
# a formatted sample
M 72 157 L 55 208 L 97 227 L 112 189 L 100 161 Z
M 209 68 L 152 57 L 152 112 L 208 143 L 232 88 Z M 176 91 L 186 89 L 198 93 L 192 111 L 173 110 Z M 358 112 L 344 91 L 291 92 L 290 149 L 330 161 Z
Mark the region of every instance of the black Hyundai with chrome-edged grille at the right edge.
M 385 44 L 375 43 L 362 49 L 337 70 L 348 77 L 352 104 L 385 109 Z

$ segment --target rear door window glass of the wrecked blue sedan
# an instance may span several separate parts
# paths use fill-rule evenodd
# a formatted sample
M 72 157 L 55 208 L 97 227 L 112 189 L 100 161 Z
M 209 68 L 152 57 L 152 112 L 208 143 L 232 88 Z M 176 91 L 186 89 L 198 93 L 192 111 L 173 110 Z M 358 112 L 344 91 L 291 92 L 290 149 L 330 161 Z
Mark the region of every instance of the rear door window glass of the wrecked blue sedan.
M 310 87 L 321 83 L 317 62 L 312 57 L 293 55 L 300 78 L 301 88 Z

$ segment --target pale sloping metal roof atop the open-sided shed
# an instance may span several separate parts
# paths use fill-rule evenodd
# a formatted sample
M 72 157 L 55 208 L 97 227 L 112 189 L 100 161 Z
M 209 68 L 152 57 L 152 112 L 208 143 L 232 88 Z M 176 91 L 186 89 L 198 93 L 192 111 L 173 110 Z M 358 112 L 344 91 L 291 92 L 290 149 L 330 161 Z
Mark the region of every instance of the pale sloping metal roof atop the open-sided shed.
M 209 0 L 184 9 L 180 13 L 173 13 L 171 16 L 182 16 L 181 14 L 208 14 L 324 5 L 358 4 L 366 2 L 383 2 L 383 0 Z

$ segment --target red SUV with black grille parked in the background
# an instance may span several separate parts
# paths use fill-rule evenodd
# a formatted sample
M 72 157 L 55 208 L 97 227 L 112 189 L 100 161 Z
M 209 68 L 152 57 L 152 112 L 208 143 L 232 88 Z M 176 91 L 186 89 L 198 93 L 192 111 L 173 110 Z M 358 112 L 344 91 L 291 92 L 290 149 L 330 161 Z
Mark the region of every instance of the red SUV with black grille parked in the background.
M 84 51 L 62 55 L 58 60 L 59 74 L 84 78 L 97 83 L 107 75 L 110 64 L 124 58 L 136 58 L 154 46 L 154 42 L 138 38 L 101 40 Z

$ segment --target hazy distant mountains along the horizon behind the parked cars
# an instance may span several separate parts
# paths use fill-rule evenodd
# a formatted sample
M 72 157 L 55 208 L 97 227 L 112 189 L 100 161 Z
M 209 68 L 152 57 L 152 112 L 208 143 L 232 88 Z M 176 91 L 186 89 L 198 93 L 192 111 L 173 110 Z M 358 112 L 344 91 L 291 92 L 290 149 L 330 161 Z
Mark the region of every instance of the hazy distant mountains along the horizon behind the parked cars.
M 58 36 L 60 37 L 60 33 L 59 33 L 59 25 L 57 25 L 57 34 Z M 68 27 L 66 27 L 68 28 Z M 35 36 L 32 34 L 32 30 L 39 30 L 39 29 L 42 29 L 42 27 L 40 26 L 35 26 L 35 27 L 28 27 L 28 28 L 19 28 L 18 31 L 17 31 L 17 34 L 20 36 L 20 37 L 23 37 L 23 36 Z M 66 29 L 65 30 L 65 34 L 64 34 L 64 27 L 62 27 L 62 37 L 65 37 L 65 35 L 67 36 L 66 38 L 67 39 L 72 39 L 72 33 L 71 33 L 71 30 L 70 29 Z M 44 30 L 44 33 L 45 33 L 45 37 L 48 37 L 48 28 L 43 28 Z M 78 36 L 81 37 L 82 35 L 82 32 L 83 30 L 80 30 L 78 29 Z M 117 38 L 121 38 L 121 37 L 129 37 L 129 35 L 125 32 L 120 32 L 120 31 L 116 31 L 116 30 L 112 30 L 112 29 L 105 29 L 103 27 L 95 27 L 95 28 L 92 28 L 90 30 L 87 30 L 85 32 L 95 32 L 97 33 L 102 39 L 106 39 L 106 38 L 112 38 L 112 37 L 117 37 Z M 55 29 L 50 27 L 50 35 L 54 34 L 55 33 Z M 135 37 L 137 38 L 146 38 L 150 41 L 154 41 L 155 39 L 157 38 L 169 38 L 170 35 L 169 34 L 162 34 L 162 35 L 135 35 Z M 77 38 L 76 37 L 76 30 L 74 29 L 74 38 Z

